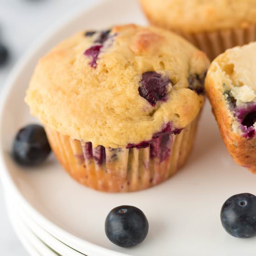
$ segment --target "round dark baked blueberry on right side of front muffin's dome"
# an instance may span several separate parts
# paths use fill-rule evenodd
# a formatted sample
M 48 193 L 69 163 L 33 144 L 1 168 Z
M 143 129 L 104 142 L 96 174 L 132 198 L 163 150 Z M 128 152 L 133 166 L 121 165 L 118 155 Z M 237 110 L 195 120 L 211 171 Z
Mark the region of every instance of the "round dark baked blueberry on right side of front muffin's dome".
M 167 100 L 167 88 L 170 83 L 172 82 L 168 76 L 163 76 L 155 71 L 145 72 L 141 77 L 139 94 L 152 106 L 155 106 L 156 101 Z

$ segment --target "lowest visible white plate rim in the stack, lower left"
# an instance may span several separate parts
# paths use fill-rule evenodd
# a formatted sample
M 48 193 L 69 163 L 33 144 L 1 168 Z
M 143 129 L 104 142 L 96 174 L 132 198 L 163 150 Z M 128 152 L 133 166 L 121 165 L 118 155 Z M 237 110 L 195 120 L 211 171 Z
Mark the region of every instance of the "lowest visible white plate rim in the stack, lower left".
M 12 223 L 13 229 L 20 239 L 27 252 L 31 256 L 58 256 L 59 254 L 54 253 L 45 243 L 43 243 L 34 233 L 27 228 L 16 212 L 18 209 L 14 208 L 10 198 L 7 198 L 7 211 L 9 219 Z

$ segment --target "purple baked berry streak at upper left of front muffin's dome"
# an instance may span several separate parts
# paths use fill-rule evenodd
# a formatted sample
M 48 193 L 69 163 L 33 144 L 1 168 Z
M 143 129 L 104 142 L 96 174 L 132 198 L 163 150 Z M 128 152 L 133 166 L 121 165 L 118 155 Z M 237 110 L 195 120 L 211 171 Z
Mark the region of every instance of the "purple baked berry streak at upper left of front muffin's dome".
M 90 66 L 93 68 L 97 67 L 98 56 L 101 52 L 103 44 L 110 38 L 111 30 L 101 31 L 99 36 L 94 40 L 94 45 L 85 50 L 84 55 L 91 57 Z M 85 36 L 93 36 L 96 34 L 96 31 L 88 31 L 85 33 Z

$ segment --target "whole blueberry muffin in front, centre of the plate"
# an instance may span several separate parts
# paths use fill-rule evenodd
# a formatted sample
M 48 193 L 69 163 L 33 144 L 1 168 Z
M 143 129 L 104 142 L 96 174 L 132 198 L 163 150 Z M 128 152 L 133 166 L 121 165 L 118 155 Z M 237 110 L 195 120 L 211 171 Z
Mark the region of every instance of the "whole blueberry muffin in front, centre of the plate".
M 161 28 L 86 31 L 39 61 L 25 101 L 78 182 L 146 189 L 186 161 L 208 66 L 204 53 Z

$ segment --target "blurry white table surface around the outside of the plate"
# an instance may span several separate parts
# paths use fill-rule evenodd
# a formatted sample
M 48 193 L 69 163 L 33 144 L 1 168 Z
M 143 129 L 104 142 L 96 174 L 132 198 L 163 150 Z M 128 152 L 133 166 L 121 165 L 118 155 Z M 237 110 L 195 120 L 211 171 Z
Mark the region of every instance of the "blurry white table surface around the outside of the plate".
M 31 43 L 63 20 L 74 8 L 89 7 L 95 0 L 0 0 L 0 40 L 9 48 L 8 65 L 0 67 L 0 89 L 10 70 Z M 0 183 L 0 255 L 28 256 L 11 227 Z

